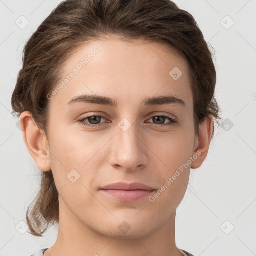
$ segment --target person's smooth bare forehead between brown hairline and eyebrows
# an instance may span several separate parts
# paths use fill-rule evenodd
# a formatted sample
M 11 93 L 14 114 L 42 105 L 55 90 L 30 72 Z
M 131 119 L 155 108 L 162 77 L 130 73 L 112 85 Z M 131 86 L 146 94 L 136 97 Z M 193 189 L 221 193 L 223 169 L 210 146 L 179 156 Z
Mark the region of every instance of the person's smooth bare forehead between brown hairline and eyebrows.
M 123 102 L 132 99 L 135 103 L 171 93 L 192 103 L 186 60 L 167 43 L 143 39 L 128 42 L 110 37 L 84 43 L 64 63 L 56 87 L 61 89 L 50 103 L 62 106 L 77 94 L 105 95 Z

